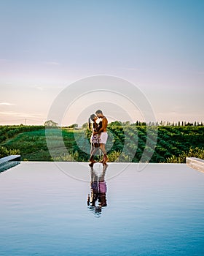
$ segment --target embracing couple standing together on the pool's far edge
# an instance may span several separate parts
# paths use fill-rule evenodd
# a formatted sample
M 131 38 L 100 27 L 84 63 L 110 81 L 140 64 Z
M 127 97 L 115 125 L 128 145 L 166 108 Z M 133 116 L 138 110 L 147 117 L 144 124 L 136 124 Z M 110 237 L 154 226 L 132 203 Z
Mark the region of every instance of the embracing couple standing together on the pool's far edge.
M 98 151 L 98 148 L 100 148 L 103 154 L 103 159 L 100 162 L 103 163 L 103 165 L 106 165 L 106 162 L 108 161 L 106 155 L 106 141 L 108 138 L 107 125 L 108 120 L 106 116 L 103 116 L 101 110 L 97 110 L 95 114 L 92 114 L 89 118 L 89 129 L 92 129 L 93 131 L 90 138 L 90 166 L 93 166 L 95 163 L 93 158 L 96 151 Z

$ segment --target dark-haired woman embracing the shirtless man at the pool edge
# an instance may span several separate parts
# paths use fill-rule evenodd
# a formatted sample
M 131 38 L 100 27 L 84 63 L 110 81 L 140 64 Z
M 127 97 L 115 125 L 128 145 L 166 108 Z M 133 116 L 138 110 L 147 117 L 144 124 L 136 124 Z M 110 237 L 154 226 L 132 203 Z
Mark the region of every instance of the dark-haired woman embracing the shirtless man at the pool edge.
M 95 160 L 93 159 L 95 152 L 98 150 L 99 147 L 99 135 L 98 135 L 98 129 L 101 128 L 101 124 L 97 124 L 96 120 L 98 119 L 95 114 L 90 115 L 88 126 L 89 129 L 92 129 L 92 135 L 90 138 L 91 148 L 90 148 L 90 166 L 93 166 L 95 163 Z M 92 125 L 91 125 L 92 124 Z

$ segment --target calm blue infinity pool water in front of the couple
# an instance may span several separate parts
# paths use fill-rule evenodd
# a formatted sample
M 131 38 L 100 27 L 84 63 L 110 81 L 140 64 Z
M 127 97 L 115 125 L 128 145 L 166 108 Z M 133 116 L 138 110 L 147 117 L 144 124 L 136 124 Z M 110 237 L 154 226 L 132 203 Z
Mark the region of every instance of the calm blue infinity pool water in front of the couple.
M 22 162 L 0 174 L 0 255 L 204 255 L 203 173 L 62 165 Z M 107 206 L 87 206 L 91 178 Z

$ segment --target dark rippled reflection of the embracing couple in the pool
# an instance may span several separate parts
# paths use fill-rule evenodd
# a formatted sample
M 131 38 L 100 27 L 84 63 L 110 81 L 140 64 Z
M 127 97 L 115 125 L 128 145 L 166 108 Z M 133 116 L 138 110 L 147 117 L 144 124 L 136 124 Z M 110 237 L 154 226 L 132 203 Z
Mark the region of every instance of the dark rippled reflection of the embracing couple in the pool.
M 96 171 L 90 167 L 90 194 L 87 197 L 87 206 L 94 211 L 95 217 L 101 216 L 102 208 L 107 206 L 105 174 L 108 165 L 103 165 L 103 170 Z

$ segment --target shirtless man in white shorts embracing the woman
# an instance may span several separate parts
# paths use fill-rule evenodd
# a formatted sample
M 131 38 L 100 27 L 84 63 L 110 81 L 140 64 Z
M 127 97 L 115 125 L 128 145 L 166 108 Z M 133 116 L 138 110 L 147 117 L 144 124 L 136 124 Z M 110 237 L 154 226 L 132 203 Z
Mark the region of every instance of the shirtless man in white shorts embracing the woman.
M 98 135 L 100 136 L 99 138 L 100 149 L 103 153 L 103 160 L 101 162 L 103 163 L 103 165 L 106 165 L 106 162 L 108 161 L 108 157 L 106 155 L 106 141 L 108 138 L 108 133 L 107 133 L 108 120 L 106 116 L 103 116 L 103 112 L 101 110 L 97 110 L 95 114 L 98 118 L 102 119 L 101 128 L 98 130 Z

